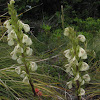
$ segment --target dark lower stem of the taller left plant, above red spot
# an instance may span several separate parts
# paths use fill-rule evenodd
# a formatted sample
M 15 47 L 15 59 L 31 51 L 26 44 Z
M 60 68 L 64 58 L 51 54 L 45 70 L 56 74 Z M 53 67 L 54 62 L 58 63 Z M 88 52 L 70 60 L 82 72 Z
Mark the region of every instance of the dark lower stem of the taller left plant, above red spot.
M 25 58 L 24 53 L 22 54 L 22 57 Z M 28 77 L 29 78 L 29 84 L 31 86 L 32 92 L 33 92 L 34 96 L 36 96 L 36 92 L 35 92 L 35 89 L 34 89 L 34 85 L 32 83 L 32 79 L 30 77 L 29 69 L 28 69 L 28 66 L 26 64 L 26 60 L 25 59 L 24 59 L 24 65 L 25 65 L 26 73 L 29 75 L 29 77 Z

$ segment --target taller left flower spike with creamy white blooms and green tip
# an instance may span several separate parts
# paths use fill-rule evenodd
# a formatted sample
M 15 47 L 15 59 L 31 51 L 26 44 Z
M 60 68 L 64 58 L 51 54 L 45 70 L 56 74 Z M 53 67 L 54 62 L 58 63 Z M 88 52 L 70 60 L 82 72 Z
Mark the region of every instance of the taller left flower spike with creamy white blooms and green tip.
M 8 45 L 15 46 L 14 50 L 10 53 L 13 60 L 16 60 L 19 64 L 25 65 L 25 71 L 21 71 L 21 67 L 15 68 L 15 72 L 20 74 L 23 78 L 23 82 L 29 83 L 29 72 L 36 71 L 37 65 L 35 62 L 27 61 L 25 58 L 32 55 L 32 40 L 25 33 L 30 31 L 28 24 L 24 24 L 22 21 L 18 20 L 16 16 L 16 11 L 14 10 L 14 0 L 10 0 L 8 4 L 9 14 L 11 19 L 4 22 L 4 26 L 7 28 L 8 33 Z

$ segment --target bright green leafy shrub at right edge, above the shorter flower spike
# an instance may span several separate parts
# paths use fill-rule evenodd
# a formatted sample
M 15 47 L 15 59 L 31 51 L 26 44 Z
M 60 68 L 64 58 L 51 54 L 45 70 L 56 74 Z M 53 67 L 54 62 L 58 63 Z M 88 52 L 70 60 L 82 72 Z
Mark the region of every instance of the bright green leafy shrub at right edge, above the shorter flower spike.
M 92 17 L 89 17 L 86 20 L 76 17 L 73 19 L 72 24 L 77 30 L 90 32 L 93 34 L 100 30 L 100 19 L 93 19 Z

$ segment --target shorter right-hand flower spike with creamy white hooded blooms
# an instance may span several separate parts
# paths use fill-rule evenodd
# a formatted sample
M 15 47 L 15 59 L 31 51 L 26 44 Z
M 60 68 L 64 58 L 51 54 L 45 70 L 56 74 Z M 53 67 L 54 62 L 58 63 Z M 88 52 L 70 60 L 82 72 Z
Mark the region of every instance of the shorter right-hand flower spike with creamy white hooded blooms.
M 81 86 L 84 85 L 85 82 L 90 81 L 90 76 L 88 74 L 83 75 L 82 72 L 86 72 L 89 69 L 89 65 L 83 61 L 87 59 L 87 53 L 79 46 L 78 42 L 85 42 L 86 38 L 84 35 L 76 36 L 76 32 L 71 27 L 65 28 L 64 35 L 68 36 L 72 43 L 72 48 L 64 51 L 64 55 L 68 59 L 68 64 L 65 65 L 65 71 L 72 76 L 72 80 L 67 82 L 67 86 L 71 89 L 72 84 L 77 85 L 78 83 L 78 95 L 85 95 L 85 90 L 81 88 Z

